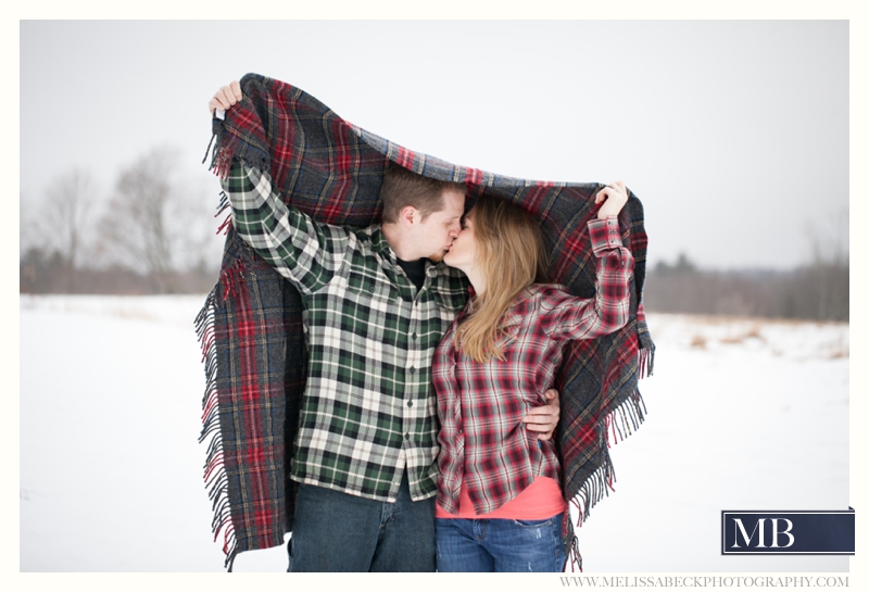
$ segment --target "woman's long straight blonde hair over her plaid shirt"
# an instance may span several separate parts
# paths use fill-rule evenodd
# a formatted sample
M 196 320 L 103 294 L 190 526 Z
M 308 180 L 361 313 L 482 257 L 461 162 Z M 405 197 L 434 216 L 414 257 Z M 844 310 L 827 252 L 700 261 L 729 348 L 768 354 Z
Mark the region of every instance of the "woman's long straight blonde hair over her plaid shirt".
M 498 345 L 504 314 L 522 290 L 547 281 L 549 257 L 540 225 L 518 205 L 482 194 L 474 205 L 473 221 L 476 264 L 486 278 L 486 292 L 458 327 L 455 344 L 482 363 L 504 360 Z

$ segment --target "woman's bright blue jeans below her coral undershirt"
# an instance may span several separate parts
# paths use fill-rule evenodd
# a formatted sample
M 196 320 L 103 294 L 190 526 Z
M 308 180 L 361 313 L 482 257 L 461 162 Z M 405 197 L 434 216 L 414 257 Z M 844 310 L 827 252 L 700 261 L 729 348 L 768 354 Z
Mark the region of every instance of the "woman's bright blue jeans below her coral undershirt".
M 437 518 L 438 571 L 562 571 L 563 519 Z

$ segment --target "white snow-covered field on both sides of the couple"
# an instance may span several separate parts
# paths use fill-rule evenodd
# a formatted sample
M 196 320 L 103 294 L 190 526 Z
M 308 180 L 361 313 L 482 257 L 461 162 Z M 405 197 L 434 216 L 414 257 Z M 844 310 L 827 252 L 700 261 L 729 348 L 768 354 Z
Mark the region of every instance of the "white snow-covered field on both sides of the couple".
M 21 297 L 22 571 L 223 570 L 198 443 L 203 300 Z M 648 415 L 579 529 L 585 574 L 847 571 L 841 556 L 722 557 L 720 513 L 854 505 L 848 326 L 648 324 Z M 235 570 L 286 564 L 276 547 Z

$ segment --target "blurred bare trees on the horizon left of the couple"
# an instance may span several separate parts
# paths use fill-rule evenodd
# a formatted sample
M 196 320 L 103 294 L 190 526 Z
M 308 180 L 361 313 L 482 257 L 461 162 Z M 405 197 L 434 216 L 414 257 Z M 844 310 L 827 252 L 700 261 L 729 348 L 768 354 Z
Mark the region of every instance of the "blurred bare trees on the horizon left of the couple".
M 217 279 L 222 240 L 210 189 L 181 176 L 179 152 L 151 150 L 108 192 L 72 168 L 22 199 L 20 291 L 202 293 Z

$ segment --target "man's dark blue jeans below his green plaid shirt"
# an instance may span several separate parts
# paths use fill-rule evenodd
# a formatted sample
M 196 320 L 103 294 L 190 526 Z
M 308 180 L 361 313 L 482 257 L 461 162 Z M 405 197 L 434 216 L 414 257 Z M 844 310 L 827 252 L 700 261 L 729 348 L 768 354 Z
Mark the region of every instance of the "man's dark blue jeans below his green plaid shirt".
M 434 571 L 434 497 L 395 503 L 300 484 L 287 571 Z

